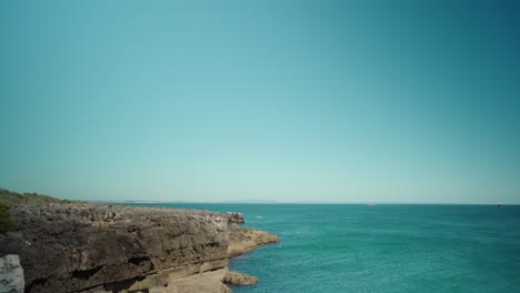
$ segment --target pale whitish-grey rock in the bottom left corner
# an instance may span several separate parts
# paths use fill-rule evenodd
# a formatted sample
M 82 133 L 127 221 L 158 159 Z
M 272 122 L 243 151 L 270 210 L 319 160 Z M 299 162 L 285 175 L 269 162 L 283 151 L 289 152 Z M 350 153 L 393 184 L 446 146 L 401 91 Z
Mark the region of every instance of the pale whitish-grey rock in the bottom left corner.
M 0 292 L 22 293 L 24 287 L 23 269 L 18 255 L 0 257 Z

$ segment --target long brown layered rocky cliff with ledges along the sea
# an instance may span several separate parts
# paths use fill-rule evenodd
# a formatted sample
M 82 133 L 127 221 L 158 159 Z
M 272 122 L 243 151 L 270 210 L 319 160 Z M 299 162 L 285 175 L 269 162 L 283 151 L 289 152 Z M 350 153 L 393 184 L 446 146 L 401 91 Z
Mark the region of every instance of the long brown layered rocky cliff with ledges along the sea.
M 231 292 L 224 283 L 258 279 L 229 271 L 229 257 L 278 242 L 239 226 L 239 213 L 87 203 L 9 212 L 16 232 L 0 236 L 0 256 L 19 256 L 26 292 Z

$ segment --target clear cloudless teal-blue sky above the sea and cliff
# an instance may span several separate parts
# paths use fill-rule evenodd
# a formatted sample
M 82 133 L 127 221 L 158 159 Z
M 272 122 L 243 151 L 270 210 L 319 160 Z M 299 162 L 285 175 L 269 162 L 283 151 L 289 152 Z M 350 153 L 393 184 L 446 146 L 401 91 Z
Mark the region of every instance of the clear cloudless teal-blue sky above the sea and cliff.
M 520 1 L 0 1 L 0 186 L 520 203 Z

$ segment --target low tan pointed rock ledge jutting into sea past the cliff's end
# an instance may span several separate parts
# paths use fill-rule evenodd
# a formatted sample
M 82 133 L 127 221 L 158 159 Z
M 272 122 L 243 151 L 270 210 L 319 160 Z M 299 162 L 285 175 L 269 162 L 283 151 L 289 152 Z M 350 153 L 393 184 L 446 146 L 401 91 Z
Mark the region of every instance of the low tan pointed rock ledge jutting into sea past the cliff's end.
M 229 229 L 228 256 L 233 257 L 258 249 L 263 244 L 278 243 L 280 239 L 267 231 L 232 226 Z

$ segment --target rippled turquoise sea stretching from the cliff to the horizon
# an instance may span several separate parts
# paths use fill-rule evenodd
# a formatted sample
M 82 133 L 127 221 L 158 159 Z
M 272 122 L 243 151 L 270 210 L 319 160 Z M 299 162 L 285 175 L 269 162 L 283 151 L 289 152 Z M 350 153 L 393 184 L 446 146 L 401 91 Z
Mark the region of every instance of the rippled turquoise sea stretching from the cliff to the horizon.
M 519 205 L 168 204 L 241 212 L 280 243 L 231 261 L 252 292 L 520 292 Z

